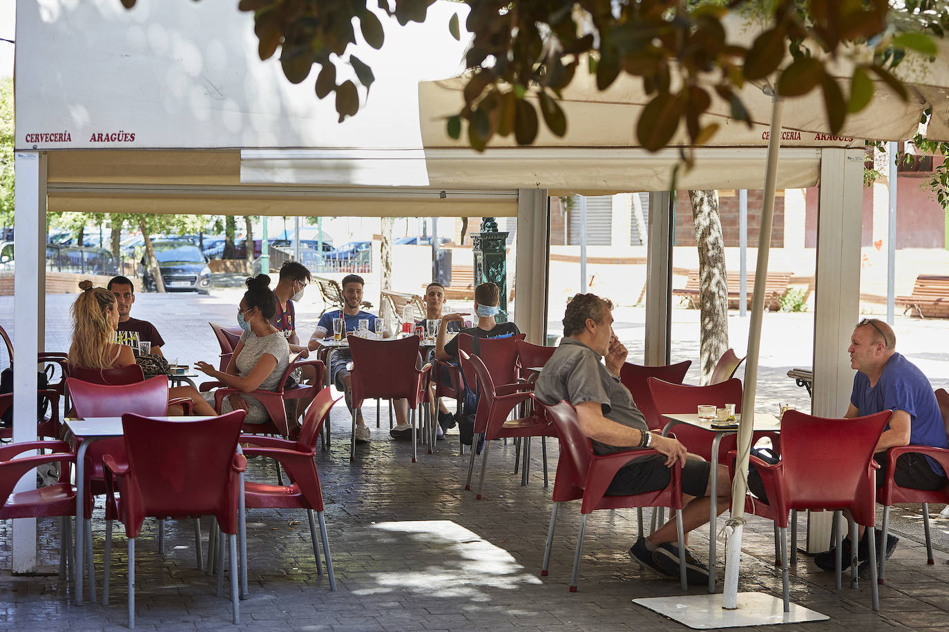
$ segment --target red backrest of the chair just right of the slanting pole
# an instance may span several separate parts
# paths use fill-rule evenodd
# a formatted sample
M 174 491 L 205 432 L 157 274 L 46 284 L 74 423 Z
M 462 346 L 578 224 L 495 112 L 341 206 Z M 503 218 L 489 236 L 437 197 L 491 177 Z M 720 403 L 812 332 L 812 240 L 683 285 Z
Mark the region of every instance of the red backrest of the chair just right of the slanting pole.
M 867 479 L 867 468 L 891 414 L 825 419 L 799 410 L 784 413 L 781 460 L 790 508 L 848 508 L 859 524 L 872 525 L 875 481 Z

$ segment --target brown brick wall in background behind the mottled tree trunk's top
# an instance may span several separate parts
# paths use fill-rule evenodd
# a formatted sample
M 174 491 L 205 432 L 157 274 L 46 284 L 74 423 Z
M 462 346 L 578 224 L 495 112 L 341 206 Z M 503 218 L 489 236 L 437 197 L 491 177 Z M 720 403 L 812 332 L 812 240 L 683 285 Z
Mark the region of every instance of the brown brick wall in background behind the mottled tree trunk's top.
M 758 229 L 761 226 L 761 190 L 748 191 L 748 245 L 757 246 Z M 738 245 L 738 192 L 718 191 L 718 217 L 726 246 Z M 692 205 L 689 192 L 679 191 L 676 199 L 676 245 L 695 245 L 696 227 L 692 221 Z M 774 198 L 774 223 L 772 225 L 772 247 L 784 247 L 784 191 Z

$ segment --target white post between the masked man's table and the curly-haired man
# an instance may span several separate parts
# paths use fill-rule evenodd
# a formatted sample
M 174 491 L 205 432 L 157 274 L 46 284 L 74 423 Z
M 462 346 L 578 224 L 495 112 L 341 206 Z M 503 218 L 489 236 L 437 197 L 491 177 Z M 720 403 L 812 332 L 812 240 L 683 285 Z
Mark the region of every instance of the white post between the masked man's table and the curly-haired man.
M 514 321 L 536 345 L 547 344 L 549 229 L 547 190 L 517 190 Z

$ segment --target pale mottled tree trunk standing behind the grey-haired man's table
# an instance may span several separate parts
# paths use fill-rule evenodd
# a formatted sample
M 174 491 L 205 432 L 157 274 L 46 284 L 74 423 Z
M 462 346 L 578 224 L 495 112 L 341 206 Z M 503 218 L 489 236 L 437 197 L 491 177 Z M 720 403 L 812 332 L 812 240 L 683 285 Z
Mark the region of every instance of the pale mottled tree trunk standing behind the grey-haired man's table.
M 698 246 L 699 384 L 708 384 L 722 353 L 728 350 L 728 277 L 725 241 L 718 218 L 718 192 L 690 190 Z

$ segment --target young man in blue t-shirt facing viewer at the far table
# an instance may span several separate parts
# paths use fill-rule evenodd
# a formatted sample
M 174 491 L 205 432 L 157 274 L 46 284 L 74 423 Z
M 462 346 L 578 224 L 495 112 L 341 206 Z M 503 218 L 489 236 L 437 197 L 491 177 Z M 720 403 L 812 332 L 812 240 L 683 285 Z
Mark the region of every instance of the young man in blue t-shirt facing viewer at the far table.
M 333 310 L 331 312 L 326 312 L 323 316 L 320 317 L 320 322 L 316 325 L 316 331 L 313 332 L 313 335 L 309 338 L 308 348 L 310 351 L 314 351 L 320 347 L 320 341 L 326 338 L 326 335 L 332 335 L 333 333 L 333 318 L 343 318 L 344 321 L 344 335 L 349 332 L 355 332 L 359 329 L 360 320 L 369 321 L 369 331 L 374 332 L 376 328 L 376 320 L 379 319 L 379 316 L 375 314 L 370 314 L 368 312 L 363 312 L 360 309 L 360 304 L 363 302 L 363 278 L 359 275 L 347 275 L 343 279 L 343 301 L 344 307 L 342 310 Z M 382 333 L 383 337 L 389 337 L 388 332 Z M 338 390 L 343 391 L 345 395 L 346 407 L 349 408 L 349 412 L 352 413 L 352 388 L 350 387 L 350 377 L 349 371 L 346 370 L 346 365 L 352 362 L 352 355 L 349 354 L 349 350 L 341 349 L 332 354 L 332 359 L 329 362 L 329 381 L 331 384 L 335 385 Z M 400 400 L 397 400 L 400 401 Z M 396 409 L 396 419 L 400 424 L 405 423 L 405 408 L 406 406 L 394 406 Z M 366 426 L 363 421 L 363 411 L 356 411 L 356 441 L 357 442 L 368 442 L 372 437 L 372 433 L 369 428 Z

